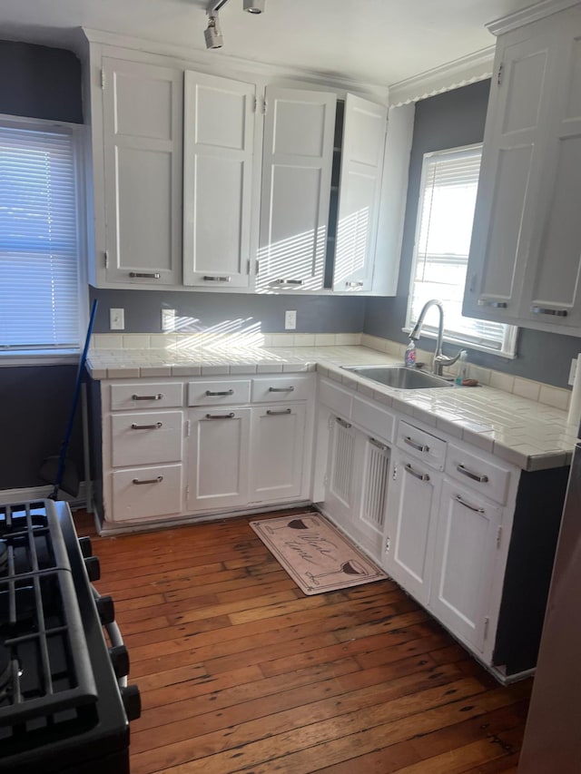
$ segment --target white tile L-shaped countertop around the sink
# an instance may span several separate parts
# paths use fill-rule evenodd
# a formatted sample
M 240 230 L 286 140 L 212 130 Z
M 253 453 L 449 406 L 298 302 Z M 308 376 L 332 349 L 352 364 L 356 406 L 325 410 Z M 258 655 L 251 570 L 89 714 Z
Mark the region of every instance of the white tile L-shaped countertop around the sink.
M 569 465 L 576 426 L 566 411 L 494 387 L 399 390 L 341 366 L 399 364 L 375 349 L 352 347 L 94 349 L 94 379 L 199 377 L 318 371 L 401 414 L 477 446 L 523 470 Z

